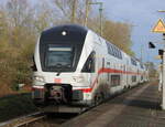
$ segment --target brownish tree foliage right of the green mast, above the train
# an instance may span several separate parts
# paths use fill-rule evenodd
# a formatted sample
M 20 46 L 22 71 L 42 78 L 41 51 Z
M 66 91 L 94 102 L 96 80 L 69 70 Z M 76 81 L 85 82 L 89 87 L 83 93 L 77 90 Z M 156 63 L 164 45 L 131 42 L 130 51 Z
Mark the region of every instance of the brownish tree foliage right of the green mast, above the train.
M 125 53 L 134 55 L 131 50 L 131 27 L 127 23 L 112 22 L 107 20 L 103 23 L 103 36 L 119 46 Z

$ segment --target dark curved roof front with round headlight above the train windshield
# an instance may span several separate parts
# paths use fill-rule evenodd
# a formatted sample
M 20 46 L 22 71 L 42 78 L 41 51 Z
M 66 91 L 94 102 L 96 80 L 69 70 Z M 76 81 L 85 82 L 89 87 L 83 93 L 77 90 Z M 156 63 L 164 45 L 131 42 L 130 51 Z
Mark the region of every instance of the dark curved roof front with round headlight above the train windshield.
M 64 24 L 53 27 L 42 32 L 41 39 L 46 41 L 84 41 L 88 29 L 78 24 Z

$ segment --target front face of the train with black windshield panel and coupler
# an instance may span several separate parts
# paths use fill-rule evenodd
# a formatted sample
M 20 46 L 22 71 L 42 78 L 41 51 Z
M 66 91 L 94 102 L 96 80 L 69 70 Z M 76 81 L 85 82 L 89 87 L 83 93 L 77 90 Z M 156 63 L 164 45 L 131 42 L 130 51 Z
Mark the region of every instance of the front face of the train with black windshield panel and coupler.
M 90 96 L 86 75 L 77 70 L 87 30 L 78 25 L 61 25 L 42 32 L 36 44 L 33 66 L 32 97 L 37 106 L 87 104 Z

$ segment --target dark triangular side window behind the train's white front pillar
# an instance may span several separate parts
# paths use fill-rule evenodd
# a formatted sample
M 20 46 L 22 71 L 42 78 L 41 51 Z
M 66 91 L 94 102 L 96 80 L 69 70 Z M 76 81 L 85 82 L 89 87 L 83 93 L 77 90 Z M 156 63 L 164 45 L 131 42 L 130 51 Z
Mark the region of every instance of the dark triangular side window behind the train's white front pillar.
M 95 72 L 96 52 L 91 52 L 88 56 L 81 72 L 94 73 Z

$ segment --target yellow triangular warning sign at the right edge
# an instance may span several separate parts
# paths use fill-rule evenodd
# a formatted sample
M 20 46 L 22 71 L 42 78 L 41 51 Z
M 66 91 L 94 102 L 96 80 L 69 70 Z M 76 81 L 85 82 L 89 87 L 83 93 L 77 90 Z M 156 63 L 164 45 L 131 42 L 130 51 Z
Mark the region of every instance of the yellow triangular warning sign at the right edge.
M 158 20 L 156 25 L 153 28 L 152 32 L 165 33 L 165 24 L 161 19 Z

